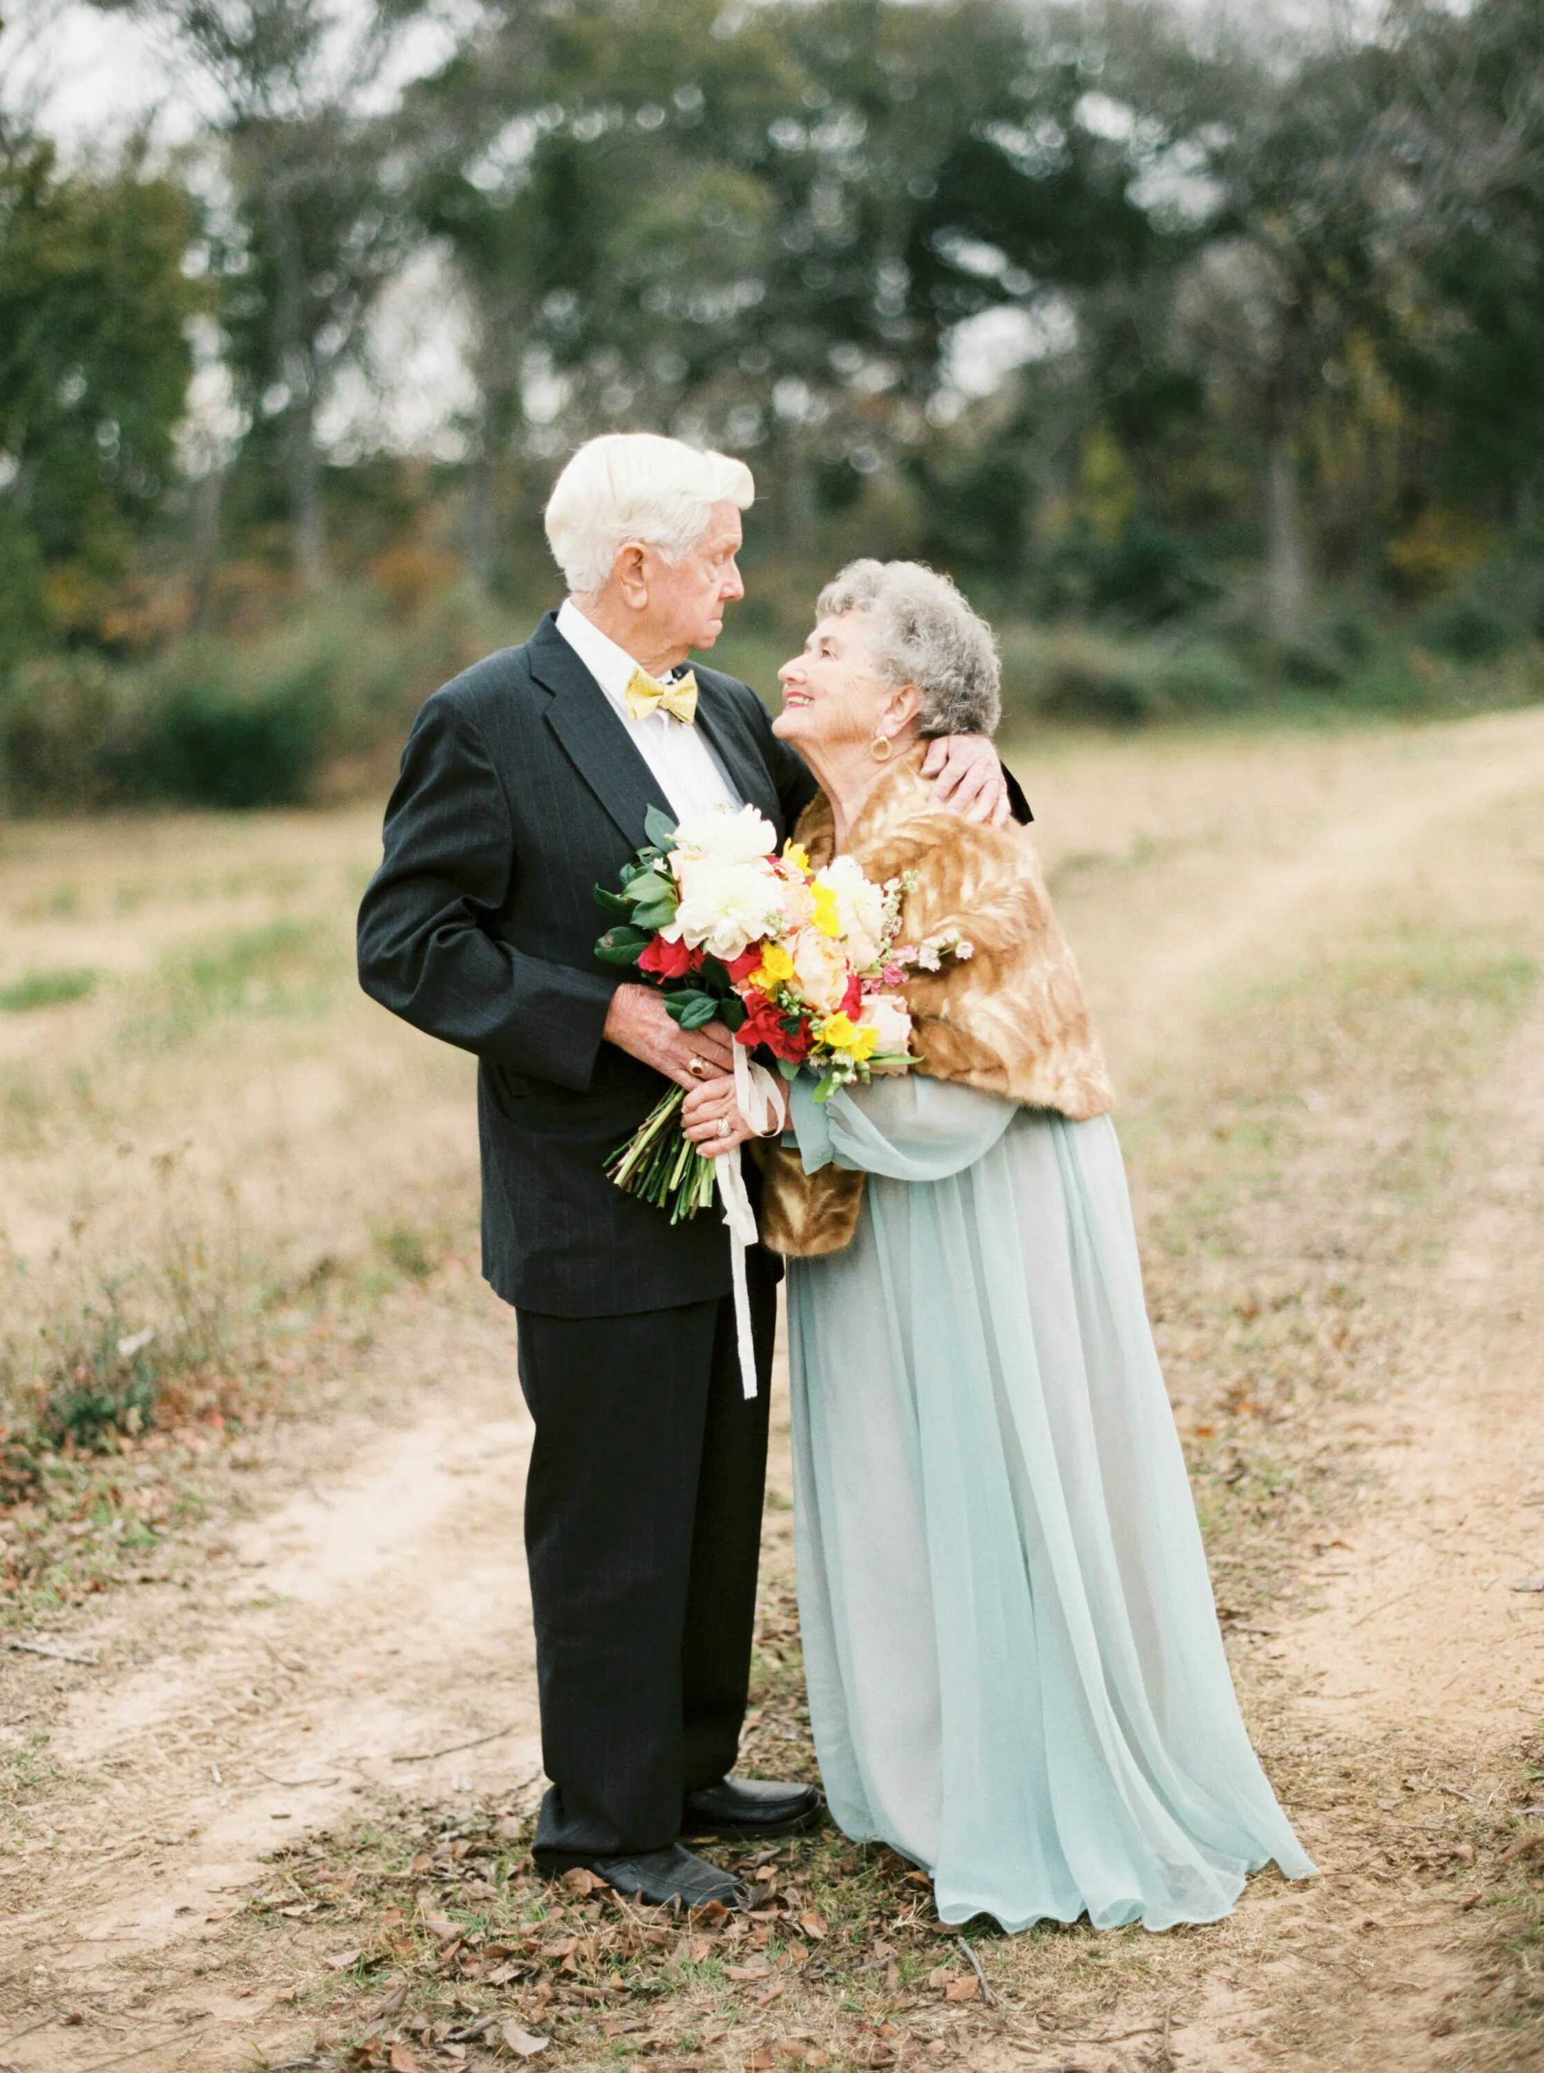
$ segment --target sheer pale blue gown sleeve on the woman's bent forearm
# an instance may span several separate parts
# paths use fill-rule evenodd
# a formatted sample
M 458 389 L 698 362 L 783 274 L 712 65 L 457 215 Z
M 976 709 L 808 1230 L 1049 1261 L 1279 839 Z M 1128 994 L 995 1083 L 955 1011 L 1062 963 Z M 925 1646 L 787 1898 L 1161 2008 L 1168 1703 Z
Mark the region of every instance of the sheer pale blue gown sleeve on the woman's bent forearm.
M 947 1180 L 982 1159 L 1018 1115 L 1018 1103 L 974 1086 L 887 1076 L 814 1099 L 802 1072 L 790 1086 L 790 1130 L 806 1173 L 825 1165 L 887 1180 Z

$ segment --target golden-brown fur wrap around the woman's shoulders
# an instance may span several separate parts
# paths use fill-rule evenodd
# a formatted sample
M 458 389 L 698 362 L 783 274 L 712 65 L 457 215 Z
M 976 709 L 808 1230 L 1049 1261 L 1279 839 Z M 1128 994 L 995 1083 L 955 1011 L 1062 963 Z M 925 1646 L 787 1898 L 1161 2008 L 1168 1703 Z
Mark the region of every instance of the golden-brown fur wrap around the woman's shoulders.
M 968 960 L 914 972 L 914 1072 L 1005 1095 L 1074 1121 L 1115 1107 L 1105 1053 L 1084 999 L 1078 964 L 1051 906 L 1026 827 L 978 827 L 933 798 L 922 777 L 926 744 L 908 750 L 864 800 L 846 854 L 870 879 L 914 873 L 902 910 L 902 941 L 957 929 Z M 835 852 L 831 806 L 819 794 L 798 823 L 812 864 Z M 773 1252 L 810 1258 L 852 1242 L 862 1211 L 862 1173 L 806 1173 L 796 1151 L 761 1146 L 761 1236 Z

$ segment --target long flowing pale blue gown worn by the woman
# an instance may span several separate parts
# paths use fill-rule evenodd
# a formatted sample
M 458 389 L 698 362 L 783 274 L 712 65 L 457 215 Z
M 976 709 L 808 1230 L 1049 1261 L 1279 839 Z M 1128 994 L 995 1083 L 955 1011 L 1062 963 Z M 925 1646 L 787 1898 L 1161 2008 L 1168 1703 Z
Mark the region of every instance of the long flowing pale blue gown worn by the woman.
M 831 1812 L 939 1915 L 1227 1915 L 1308 1876 L 1217 1627 L 1107 1115 L 922 1076 L 812 1101 L 808 1171 L 870 1175 L 792 1260 L 798 1602 Z

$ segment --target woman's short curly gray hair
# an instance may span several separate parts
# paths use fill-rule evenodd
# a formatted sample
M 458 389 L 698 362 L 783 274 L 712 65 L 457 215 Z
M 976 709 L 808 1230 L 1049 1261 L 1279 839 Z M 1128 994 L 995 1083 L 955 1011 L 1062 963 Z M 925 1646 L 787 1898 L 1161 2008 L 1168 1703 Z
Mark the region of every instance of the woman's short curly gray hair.
M 987 620 L 922 562 L 848 562 L 814 605 L 819 618 L 862 612 L 889 684 L 922 692 L 922 734 L 995 734 L 1003 717 L 1001 663 Z

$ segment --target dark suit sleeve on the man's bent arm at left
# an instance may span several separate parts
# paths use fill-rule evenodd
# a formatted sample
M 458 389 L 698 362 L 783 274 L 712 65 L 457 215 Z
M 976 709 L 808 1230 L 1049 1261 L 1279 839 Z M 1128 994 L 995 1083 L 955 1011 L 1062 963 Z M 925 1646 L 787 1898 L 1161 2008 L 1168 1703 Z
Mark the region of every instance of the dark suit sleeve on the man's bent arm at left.
M 618 981 L 526 958 L 497 933 L 518 856 L 510 802 L 475 726 L 421 709 L 359 910 L 359 983 L 414 1028 L 584 1092 Z

